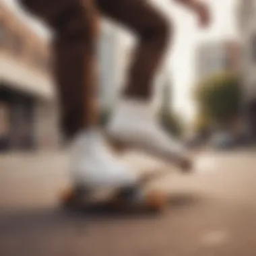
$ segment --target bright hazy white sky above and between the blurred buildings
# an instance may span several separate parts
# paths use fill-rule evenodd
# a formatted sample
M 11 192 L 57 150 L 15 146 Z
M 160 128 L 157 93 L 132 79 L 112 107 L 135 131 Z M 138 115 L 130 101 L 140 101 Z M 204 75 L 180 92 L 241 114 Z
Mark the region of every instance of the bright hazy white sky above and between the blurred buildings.
M 40 22 L 28 18 L 15 0 L 1 0 L 36 29 L 38 34 L 49 36 Z M 150 0 L 149 0 L 150 1 Z M 195 84 L 195 49 L 197 44 L 212 40 L 236 40 L 236 3 L 238 0 L 201 0 L 210 5 L 212 25 L 207 30 L 197 28 L 197 19 L 183 7 L 170 0 L 152 0 L 174 22 L 174 41 L 166 56 L 174 86 L 174 108 L 191 120 L 195 106 L 191 100 L 191 88 Z

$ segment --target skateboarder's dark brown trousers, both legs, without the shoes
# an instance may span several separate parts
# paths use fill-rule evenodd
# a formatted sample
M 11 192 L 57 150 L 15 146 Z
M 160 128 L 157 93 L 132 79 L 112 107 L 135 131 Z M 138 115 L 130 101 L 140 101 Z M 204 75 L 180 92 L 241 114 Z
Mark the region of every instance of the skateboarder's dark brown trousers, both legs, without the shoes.
M 123 92 L 147 99 L 170 34 L 170 24 L 147 0 L 20 0 L 55 32 L 53 55 L 63 131 L 71 137 L 98 122 L 96 40 L 99 15 L 139 37 Z

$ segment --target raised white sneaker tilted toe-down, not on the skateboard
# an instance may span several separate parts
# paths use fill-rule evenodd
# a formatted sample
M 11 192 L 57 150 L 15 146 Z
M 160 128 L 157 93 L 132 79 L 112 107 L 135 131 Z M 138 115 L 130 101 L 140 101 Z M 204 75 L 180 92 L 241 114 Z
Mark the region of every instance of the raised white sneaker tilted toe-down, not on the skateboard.
M 115 143 L 154 154 L 174 162 L 183 170 L 191 168 L 185 147 L 160 127 L 146 102 L 120 102 L 107 130 Z

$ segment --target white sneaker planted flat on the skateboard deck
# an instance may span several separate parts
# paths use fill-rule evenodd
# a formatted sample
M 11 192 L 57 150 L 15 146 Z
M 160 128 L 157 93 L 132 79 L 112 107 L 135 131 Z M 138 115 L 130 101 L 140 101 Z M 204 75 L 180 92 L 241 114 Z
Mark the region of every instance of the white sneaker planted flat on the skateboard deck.
M 71 179 L 86 189 L 119 188 L 135 185 L 136 173 L 108 150 L 99 131 L 84 131 L 73 141 Z

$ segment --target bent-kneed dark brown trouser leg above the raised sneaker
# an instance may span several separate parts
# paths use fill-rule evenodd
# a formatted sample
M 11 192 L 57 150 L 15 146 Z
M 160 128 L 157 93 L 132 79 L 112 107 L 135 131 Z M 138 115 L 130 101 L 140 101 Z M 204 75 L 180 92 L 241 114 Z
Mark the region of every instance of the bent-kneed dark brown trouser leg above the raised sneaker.
M 123 95 L 148 100 L 170 38 L 170 22 L 146 0 L 96 0 L 100 11 L 135 33 L 135 49 Z

